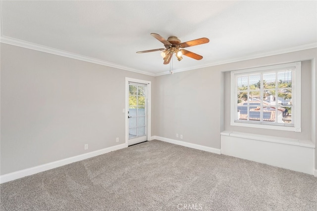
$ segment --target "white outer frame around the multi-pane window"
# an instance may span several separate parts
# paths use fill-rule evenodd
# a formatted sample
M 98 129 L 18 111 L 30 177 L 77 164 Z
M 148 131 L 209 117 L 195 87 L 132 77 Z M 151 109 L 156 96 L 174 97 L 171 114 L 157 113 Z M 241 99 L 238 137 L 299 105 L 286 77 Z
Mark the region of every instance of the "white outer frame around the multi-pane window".
M 301 66 L 302 62 L 293 62 L 287 64 L 279 64 L 279 65 L 270 65 L 265 67 L 251 68 L 251 69 L 243 69 L 231 71 L 231 111 L 230 111 L 230 125 L 231 126 L 240 126 L 240 127 L 256 127 L 256 128 L 264 128 L 264 129 L 276 129 L 276 130 L 288 130 L 301 132 Z M 267 125 L 267 124 L 259 124 L 259 123 L 241 123 L 236 121 L 237 116 L 237 85 L 236 85 L 236 76 L 238 74 L 253 74 L 256 72 L 264 72 L 269 70 L 283 69 L 283 68 L 295 68 L 295 87 L 292 91 L 292 118 L 293 118 L 293 126 L 278 126 L 278 125 Z

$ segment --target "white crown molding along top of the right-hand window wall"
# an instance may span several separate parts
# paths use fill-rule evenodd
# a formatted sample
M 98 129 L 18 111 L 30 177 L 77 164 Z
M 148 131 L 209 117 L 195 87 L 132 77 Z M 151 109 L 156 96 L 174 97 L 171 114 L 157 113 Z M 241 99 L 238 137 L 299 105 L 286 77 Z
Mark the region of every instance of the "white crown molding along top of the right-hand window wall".
M 250 59 L 257 59 L 257 58 L 261 58 L 261 57 L 273 56 L 273 55 L 278 55 L 278 54 L 283 54 L 283 53 L 290 53 L 290 52 L 295 52 L 295 51 L 299 51 L 299 50 L 307 50 L 307 49 L 311 49 L 311 48 L 317 48 L 317 42 L 298 45 L 295 47 L 289 47 L 289 48 L 284 48 L 284 49 L 279 49 L 279 50 L 262 52 L 262 53 L 258 53 L 258 54 L 247 55 L 247 56 L 243 56 L 243 57 L 239 57 L 239 58 L 213 61 L 211 63 L 206 63 L 206 64 L 202 64 L 202 65 L 198 65 L 198 66 L 194 66 L 194 67 L 190 67 L 190 68 L 183 68 L 183 69 L 174 70 L 173 73 L 180 73 L 180 72 L 196 70 L 196 69 L 205 68 L 205 67 L 228 64 L 228 63 L 233 63 L 233 62 L 240 62 L 240 61 L 245 61 L 245 60 L 250 60 Z M 164 72 L 164 73 L 160 73 L 160 74 L 156 74 L 155 76 L 162 76 L 162 75 L 168 75 L 168 74 L 170 74 L 169 71 Z

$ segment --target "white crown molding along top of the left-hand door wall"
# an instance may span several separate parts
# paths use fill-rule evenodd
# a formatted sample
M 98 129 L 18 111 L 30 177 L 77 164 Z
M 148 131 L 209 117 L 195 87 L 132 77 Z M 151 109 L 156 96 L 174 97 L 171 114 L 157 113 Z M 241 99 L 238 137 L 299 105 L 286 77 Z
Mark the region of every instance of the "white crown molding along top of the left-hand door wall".
M 5 43 L 5 44 L 19 46 L 19 47 L 29 48 L 29 49 L 33 49 L 33 50 L 38 50 L 38 51 L 42 51 L 42 52 L 46 52 L 46 53 L 51 53 L 51 54 L 55 54 L 55 55 L 59 55 L 59 56 L 64 56 L 64 57 L 68 57 L 68 58 L 72 58 L 72 59 L 77 59 L 77 60 L 82 60 L 82 61 L 91 62 L 91 63 L 95 63 L 95 64 L 100 64 L 100 65 L 104 65 L 107 67 L 113 67 L 113 68 L 126 70 L 126 71 L 130 71 L 130 72 L 140 73 L 140 74 L 149 75 L 149 76 L 155 76 L 155 74 L 153 74 L 153 73 L 139 71 L 139 70 L 136 70 L 133 68 L 122 66 L 122 65 L 119 65 L 116 63 L 105 61 L 105 60 L 95 59 L 92 57 L 83 56 L 80 54 L 59 50 L 59 49 L 56 49 L 53 47 L 35 44 L 32 42 L 26 42 L 26 41 L 14 39 L 14 38 L 9 38 L 9 37 L 5 37 L 5 36 L 0 36 L 0 42 Z

